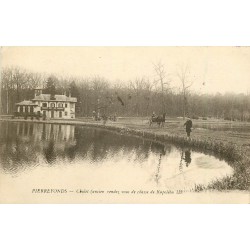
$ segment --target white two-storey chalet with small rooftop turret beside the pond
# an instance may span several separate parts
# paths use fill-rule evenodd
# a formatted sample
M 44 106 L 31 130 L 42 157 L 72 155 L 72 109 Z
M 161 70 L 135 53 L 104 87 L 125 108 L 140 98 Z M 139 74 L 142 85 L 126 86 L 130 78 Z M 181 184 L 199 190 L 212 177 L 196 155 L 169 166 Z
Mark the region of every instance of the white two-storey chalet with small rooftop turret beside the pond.
M 35 98 L 16 103 L 17 114 L 39 115 L 47 118 L 75 118 L 75 97 L 66 95 L 42 94 L 42 89 L 35 89 Z

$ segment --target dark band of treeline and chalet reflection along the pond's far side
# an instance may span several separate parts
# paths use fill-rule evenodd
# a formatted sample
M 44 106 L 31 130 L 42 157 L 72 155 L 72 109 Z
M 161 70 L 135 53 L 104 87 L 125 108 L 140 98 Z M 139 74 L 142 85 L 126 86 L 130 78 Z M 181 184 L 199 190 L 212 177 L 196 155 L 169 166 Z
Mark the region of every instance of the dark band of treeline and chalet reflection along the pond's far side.
M 43 160 L 48 164 L 77 159 L 98 162 L 118 154 L 143 162 L 151 152 L 166 155 L 171 151 L 167 145 L 101 129 L 32 122 L 1 122 L 0 128 L 0 164 L 7 172 Z

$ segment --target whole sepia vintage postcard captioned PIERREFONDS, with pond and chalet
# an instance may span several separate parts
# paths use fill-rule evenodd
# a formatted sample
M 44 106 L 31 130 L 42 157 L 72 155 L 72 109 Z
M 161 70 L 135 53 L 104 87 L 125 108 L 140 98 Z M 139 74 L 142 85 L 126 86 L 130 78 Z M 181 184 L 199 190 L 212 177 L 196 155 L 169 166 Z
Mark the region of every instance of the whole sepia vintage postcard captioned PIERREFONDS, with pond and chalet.
M 0 203 L 249 203 L 250 47 L 1 47 Z

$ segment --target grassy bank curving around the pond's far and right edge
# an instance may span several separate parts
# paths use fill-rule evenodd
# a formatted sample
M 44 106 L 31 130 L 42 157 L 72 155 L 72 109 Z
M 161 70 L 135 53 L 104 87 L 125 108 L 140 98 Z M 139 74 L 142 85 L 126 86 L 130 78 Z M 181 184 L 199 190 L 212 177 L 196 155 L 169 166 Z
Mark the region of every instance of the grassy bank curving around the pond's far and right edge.
M 214 181 L 208 187 L 196 186 L 196 191 L 204 189 L 213 190 L 248 190 L 250 186 L 250 133 L 235 131 L 214 131 L 209 129 L 194 129 L 192 139 L 187 140 L 183 128 L 183 121 L 178 119 L 168 120 L 164 128 L 157 125 L 149 126 L 146 119 L 119 119 L 117 122 L 95 122 L 90 119 L 76 120 L 23 120 L 6 119 L 8 121 L 39 122 L 53 124 L 70 124 L 92 126 L 116 131 L 120 134 L 142 136 L 160 143 L 172 143 L 177 147 L 190 147 L 196 151 L 209 153 L 225 160 L 234 168 L 230 177 Z M 209 123 L 218 121 L 209 121 Z M 205 123 L 194 121 L 194 124 Z M 243 124 L 244 126 L 244 124 Z

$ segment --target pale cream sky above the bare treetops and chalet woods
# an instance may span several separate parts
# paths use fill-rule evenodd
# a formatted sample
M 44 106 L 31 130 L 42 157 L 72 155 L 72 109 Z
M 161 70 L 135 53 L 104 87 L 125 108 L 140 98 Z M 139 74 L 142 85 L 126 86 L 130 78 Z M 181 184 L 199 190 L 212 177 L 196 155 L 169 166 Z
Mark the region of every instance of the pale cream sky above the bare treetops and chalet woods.
M 180 65 L 188 65 L 198 93 L 250 92 L 250 47 L 2 47 L 1 67 L 18 66 L 59 76 L 101 76 L 113 83 L 155 78 L 161 62 L 178 88 Z

